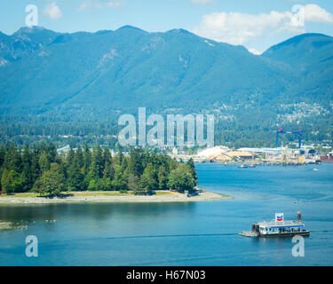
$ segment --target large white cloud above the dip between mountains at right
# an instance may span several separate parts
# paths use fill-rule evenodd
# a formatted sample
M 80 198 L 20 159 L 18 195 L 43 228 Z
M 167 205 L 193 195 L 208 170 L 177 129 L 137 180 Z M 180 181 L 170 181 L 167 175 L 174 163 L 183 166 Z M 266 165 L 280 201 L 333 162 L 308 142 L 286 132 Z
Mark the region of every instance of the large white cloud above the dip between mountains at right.
M 332 14 L 315 4 L 297 5 L 293 11 L 260 14 L 213 12 L 203 15 L 193 32 L 218 42 L 244 44 L 279 33 L 305 33 L 305 21 L 333 23 Z

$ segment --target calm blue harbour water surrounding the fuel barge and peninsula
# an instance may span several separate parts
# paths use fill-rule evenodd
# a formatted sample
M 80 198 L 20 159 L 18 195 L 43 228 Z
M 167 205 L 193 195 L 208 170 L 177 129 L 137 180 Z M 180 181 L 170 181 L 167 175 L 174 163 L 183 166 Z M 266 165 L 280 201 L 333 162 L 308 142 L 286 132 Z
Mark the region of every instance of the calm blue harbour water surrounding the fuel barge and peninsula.
M 199 164 L 197 170 L 200 185 L 234 199 L 0 206 L 0 219 L 28 225 L 0 233 L 0 264 L 333 265 L 333 164 L 243 170 Z M 305 257 L 291 255 L 291 239 L 237 235 L 275 212 L 295 219 L 297 210 L 312 231 Z M 25 256 L 30 234 L 38 237 L 38 257 Z

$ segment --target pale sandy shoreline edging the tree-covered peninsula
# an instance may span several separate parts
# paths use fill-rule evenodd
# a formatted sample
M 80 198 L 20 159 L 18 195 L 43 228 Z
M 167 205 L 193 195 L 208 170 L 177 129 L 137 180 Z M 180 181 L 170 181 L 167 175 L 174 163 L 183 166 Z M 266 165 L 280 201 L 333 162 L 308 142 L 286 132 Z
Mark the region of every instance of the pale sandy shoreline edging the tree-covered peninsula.
M 84 193 L 89 193 L 84 195 Z M 231 196 L 203 191 L 199 195 L 187 197 L 184 193 L 167 192 L 164 194 L 155 195 L 133 195 L 133 194 L 118 194 L 118 195 L 103 195 L 101 192 L 77 192 L 72 193 L 73 196 L 63 197 L 38 197 L 38 196 L 0 196 L 0 206 L 3 205 L 35 205 L 35 204 L 63 204 L 63 203 L 88 203 L 88 202 L 103 202 L 103 203 L 155 203 L 155 202 L 195 202 L 195 201 L 218 201 L 232 199 Z M 102 192 L 105 193 L 105 192 Z

